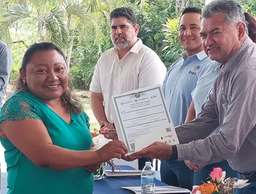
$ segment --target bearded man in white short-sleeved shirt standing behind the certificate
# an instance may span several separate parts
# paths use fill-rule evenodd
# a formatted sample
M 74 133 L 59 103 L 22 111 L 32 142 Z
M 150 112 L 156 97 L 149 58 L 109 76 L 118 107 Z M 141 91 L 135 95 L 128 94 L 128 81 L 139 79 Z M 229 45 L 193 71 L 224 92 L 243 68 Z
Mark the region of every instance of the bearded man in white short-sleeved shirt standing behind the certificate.
M 90 86 L 92 110 L 101 129 L 115 129 L 109 105 L 112 96 L 162 84 L 167 71 L 159 56 L 137 37 L 139 25 L 131 9 L 113 10 L 110 26 L 115 47 L 99 58 Z M 109 138 L 116 140 L 117 133 L 111 132 Z M 139 161 L 139 169 L 144 166 L 145 160 Z

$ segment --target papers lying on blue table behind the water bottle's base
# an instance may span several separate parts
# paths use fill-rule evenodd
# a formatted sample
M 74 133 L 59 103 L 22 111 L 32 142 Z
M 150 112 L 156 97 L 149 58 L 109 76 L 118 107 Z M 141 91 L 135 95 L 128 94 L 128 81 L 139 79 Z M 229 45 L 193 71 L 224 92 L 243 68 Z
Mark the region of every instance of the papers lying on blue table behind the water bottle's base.
M 124 190 L 130 190 L 134 192 L 135 194 L 141 194 L 141 187 L 121 187 Z M 190 190 L 179 188 L 179 187 L 173 187 L 173 186 L 159 186 L 155 187 L 155 194 L 189 194 Z

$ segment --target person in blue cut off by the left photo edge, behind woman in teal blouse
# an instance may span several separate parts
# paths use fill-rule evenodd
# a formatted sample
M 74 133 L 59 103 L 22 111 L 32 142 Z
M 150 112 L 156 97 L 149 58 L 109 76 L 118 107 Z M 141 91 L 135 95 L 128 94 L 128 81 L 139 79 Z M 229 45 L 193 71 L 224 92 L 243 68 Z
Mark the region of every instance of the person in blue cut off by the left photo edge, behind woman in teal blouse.
M 13 58 L 8 46 L 0 41 L 0 110 L 6 94 L 9 82 Z M 1 188 L 1 169 L 0 169 L 0 188 Z

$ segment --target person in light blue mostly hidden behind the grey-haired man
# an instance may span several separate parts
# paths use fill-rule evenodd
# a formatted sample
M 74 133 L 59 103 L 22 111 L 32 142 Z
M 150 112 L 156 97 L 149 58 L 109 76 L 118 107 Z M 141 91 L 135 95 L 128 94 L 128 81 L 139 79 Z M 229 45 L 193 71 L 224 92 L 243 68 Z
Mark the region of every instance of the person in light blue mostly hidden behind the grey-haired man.
M 256 42 L 256 21 L 252 15 L 249 13 L 244 13 L 246 19 L 246 25 L 248 28 L 249 38 Z M 219 69 L 221 64 L 218 62 L 212 62 L 207 64 L 200 72 L 197 87 L 192 91 L 192 102 L 190 104 L 190 108 L 187 114 L 187 118 L 185 122 L 189 122 L 196 118 L 196 115 L 201 111 L 201 106 L 206 102 L 209 93 L 212 90 L 212 86 L 216 76 L 219 73 Z M 213 133 L 218 133 L 219 129 L 216 129 Z M 227 160 L 214 163 L 207 166 L 197 166 L 191 164 L 190 161 L 185 161 L 186 165 L 191 170 L 196 170 L 194 173 L 194 185 L 201 185 L 202 181 L 207 182 L 209 174 L 212 172 L 214 167 L 221 167 L 224 171 L 226 171 L 226 177 L 237 177 L 238 173 L 231 169 L 228 165 Z M 202 169 L 200 169 L 203 167 Z

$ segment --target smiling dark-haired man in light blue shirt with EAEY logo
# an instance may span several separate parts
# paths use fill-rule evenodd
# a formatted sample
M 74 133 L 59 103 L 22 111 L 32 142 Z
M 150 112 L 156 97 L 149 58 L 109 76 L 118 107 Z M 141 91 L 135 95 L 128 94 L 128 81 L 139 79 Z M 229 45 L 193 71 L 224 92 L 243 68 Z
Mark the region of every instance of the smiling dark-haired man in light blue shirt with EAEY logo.
M 163 83 L 166 105 L 174 126 L 184 124 L 198 75 L 206 64 L 212 62 L 202 47 L 200 17 L 201 10 L 194 7 L 184 9 L 179 23 L 179 40 L 185 52 L 168 69 Z M 184 161 L 161 161 L 161 180 L 168 185 L 191 190 L 193 176 L 194 172 Z

